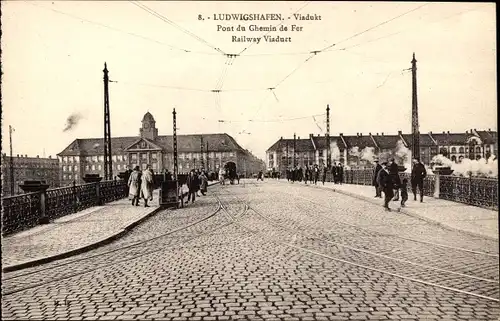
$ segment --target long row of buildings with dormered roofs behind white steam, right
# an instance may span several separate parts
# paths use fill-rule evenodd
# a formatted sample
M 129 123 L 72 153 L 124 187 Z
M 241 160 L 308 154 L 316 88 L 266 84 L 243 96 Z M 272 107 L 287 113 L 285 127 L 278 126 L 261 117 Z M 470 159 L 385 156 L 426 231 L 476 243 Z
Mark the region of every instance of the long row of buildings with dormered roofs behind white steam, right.
M 403 134 L 401 131 L 397 135 L 356 135 L 330 136 L 331 160 L 341 162 L 349 166 L 368 165 L 369 157 L 363 152 L 381 158 L 390 156 L 398 157 L 398 151 L 409 153 L 411 150 L 411 134 Z M 325 136 L 314 136 L 310 134 L 308 138 L 298 137 L 295 141 L 296 154 L 295 164 L 304 167 L 305 165 L 318 164 L 323 166 L 326 163 L 327 144 Z M 293 166 L 293 138 L 280 138 L 266 151 L 266 167 L 268 170 L 284 171 Z M 398 149 L 399 146 L 399 150 Z M 420 134 L 420 155 L 419 158 L 424 164 L 429 164 L 431 159 L 442 154 L 454 162 L 460 162 L 464 158 L 488 159 L 491 155 L 498 155 L 498 140 L 496 131 L 478 131 L 471 129 L 465 133 L 432 133 Z M 288 155 L 288 160 L 287 160 Z M 412 157 L 408 154 L 408 157 Z M 403 164 L 401 164 L 403 165 Z

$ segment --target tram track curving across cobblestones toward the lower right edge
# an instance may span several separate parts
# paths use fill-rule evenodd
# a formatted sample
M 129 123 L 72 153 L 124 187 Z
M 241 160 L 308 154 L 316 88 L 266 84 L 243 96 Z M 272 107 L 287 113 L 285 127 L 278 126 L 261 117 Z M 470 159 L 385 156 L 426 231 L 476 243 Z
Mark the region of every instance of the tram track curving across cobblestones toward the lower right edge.
M 248 226 L 246 226 L 245 224 L 242 224 L 241 222 L 238 222 L 237 221 L 237 218 L 236 217 L 233 217 L 231 216 L 228 211 L 227 211 L 227 208 L 222 204 L 222 201 L 220 200 L 220 198 L 217 196 L 219 202 L 220 202 L 220 206 L 222 208 L 222 211 L 226 212 L 227 215 L 238 225 L 240 225 L 241 227 L 243 227 L 244 229 L 248 230 L 250 233 L 252 234 L 255 234 L 255 235 L 261 235 L 261 236 L 264 236 L 265 234 L 260 232 L 260 231 L 255 231 L 251 228 L 249 228 Z M 287 230 L 289 233 L 293 235 L 297 235 L 297 234 L 301 234 L 304 236 L 304 232 L 303 231 L 300 231 L 300 230 L 297 230 L 297 229 L 290 229 L 288 227 L 285 227 L 285 226 L 282 226 L 276 222 L 274 222 L 272 219 L 269 219 L 269 217 L 267 217 L 266 215 L 262 214 L 260 211 L 256 210 L 254 207 L 250 206 L 248 203 L 246 203 L 246 208 L 248 208 L 248 211 L 253 211 L 254 213 L 257 214 L 257 216 L 259 216 L 261 219 L 263 219 L 264 221 L 268 222 L 270 225 L 274 225 L 275 227 L 279 228 L 279 229 L 284 229 L 284 230 Z M 296 245 L 294 243 L 297 243 L 296 242 L 296 237 L 293 237 L 293 242 L 284 242 L 284 241 L 280 241 L 280 240 L 270 240 L 271 242 L 274 242 L 274 243 L 278 243 L 278 244 L 281 244 L 281 245 L 284 245 L 286 247 L 291 247 L 291 248 L 294 248 L 296 250 L 300 250 L 300 251 L 303 251 L 303 252 L 307 252 L 307 253 L 310 253 L 310 254 L 313 254 L 313 255 L 316 255 L 316 256 L 321 256 L 321 257 L 324 257 L 324 258 L 327 258 L 327 259 L 330 259 L 330 260 L 333 260 L 333 261 L 337 261 L 337 262 L 342 262 L 342 263 L 345 263 L 345 264 L 349 264 L 349 265 L 354 265 L 354 266 L 357 266 L 357 267 L 360 267 L 360 268 L 363 268 L 363 269 L 366 269 L 366 270 L 370 270 L 370 271 L 374 271 L 374 272 L 379 272 L 379 273 L 384 273 L 384 274 L 388 274 L 388 275 L 391 275 L 391 276 L 394 276 L 394 277 L 398 277 L 398 278 L 401 278 L 401 279 L 405 279 L 405 280 L 408 280 L 408 281 L 412 281 L 412 282 L 417 282 L 417 283 L 421 283 L 421 284 L 425 284 L 425 285 L 428 285 L 428 286 L 433 286 L 433 287 L 437 287 L 437 288 L 441 288 L 441 289 L 444 289 L 444 290 L 448 290 L 448 291 L 453 291 L 455 293 L 461 293 L 461 294 L 465 294 L 465 295 L 469 295 L 469 296 L 474 296 L 474 297 L 478 297 L 478 298 L 482 298 L 482 299 L 487 299 L 487 300 L 490 300 L 490 301 L 495 301 L 495 302 L 499 302 L 498 298 L 496 297 L 493 297 L 491 294 L 489 293 L 485 293 L 485 294 L 482 294 L 482 293 L 477 293 L 478 291 L 476 292 L 473 292 L 473 291 L 470 291 L 468 290 L 469 289 L 469 285 L 473 285 L 474 287 L 479 287 L 479 288 L 489 288 L 490 289 L 490 292 L 496 292 L 496 294 L 498 294 L 498 281 L 496 280 L 492 280 L 492 279 L 487 279 L 487 278 L 481 278 L 481 277 L 476 277 L 476 276 L 471 276 L 471 275 L 467 275 L 467 274 L 463 274 L 463 273 L 459 273 L 459 272 L 455 272 L 455 271 L 451 271 L 451 270 L 446 270 L 446 269 L 439 269 L 439 268 L 436 268 L 436 267 L 432 267 L 432 266 L 428 266 L 428 265 L 422 265 L 422 264 L 418 264 L 418 263 L 415 263 L 415 262 L 411 262 L 411 261 L 406 261 L 406 260 L 401 260 L 401 259 L 397 259 L 397 258 L 392 258 L 392 257 L 389 257 L 389 256 L 385 256 L 385 255 L 379 255 L 378 253 L 375 253 L 375 252 L 372 252 L 372 251 L 366 251 L 366 250 L 363 250 L 363 249 L 358 249 L 358 248 L 355 248 L 355 247 L 352 247 L 352 246 L 349 246 L 349 245 L 346 245 L 346 244 L 341 244 L 341 243 L 338 243 L 338 242 L 332 242 L 332 241 L 328 241 L 328 240 L 324 240 L 324 239 L 320 239 L 320 238 L 313 238 L 313 237 L 309 237 L 309 236 L 305 236 L 305 239 L 308 239 L 308 240 L 313 240 L 313 241 L 320 241 L 320 242 L 325 242 L 327 244 L 330 244 L 330 245 L 334 245 L 334 246 L 340 246 L 340 247 L 345 247 L 345 248 L 348 248 L 349 250 L 351 251 L 354 251 L 354 252 L 358 252 L 358 253 L 362 253 L 363 255 L 367 255 L 367 259 L 368 261 L 370 261 L 370 257 L 373 258 L 373 257 L 378 257 L 378 258 L 383 258 L 383 259 L 386 259 L 386 260 L 391 260 L 391 261 L 395 261 L 395 262 L 398 262 L 397 264 L 400 264 L 400 266 L 395 266 L 396 268 L 394 268 L 394 265 L 393 265 L 393 270 L 396 270 L 396 272 L 393 272 L 393 271 L 390 271 L 388 267 L 390 267 L 390 265 L 386 265 L 386 269 L 383 269 L 383 268 L 375 268 L 368 264 L 366 264 L 366 262 L 363 264 L 363 263 L 359 263 L 359 262 L 354 262 L 352 260 L 349 260 L 349 259 L 344 259 L 342 258 L 341 256 L 335 256 L 335 255 L 330 255 L 330 254 L 325 254 L 325 253 L 322 253 L 321 251 L 317 250 L 317 249 L 312 249 L 312 248 L 309 248 L 309 247 L 305 247 L 305 246 L 301 246 L 301 245 Z M 418 272 L 417 273 L 417 276 L 409 276 L 409 275 L 404 275 L 402 273 L 398 273 L 397 271 L 405 271 L 405 269 L 401 266 L 401 265 L 411 265 L 411 266 L 417 266 L 419 268 L 423 268 L 424 271 L 423 272 Z M 448 275 L 453 275 L 453 276 L 458 276 L 460 279 L 460 282 L 464 282 L 466 283 L 465 286 L 463 286 L 462 288 L 458 288 L 458 287 L 453 287 L 453 286 L 447 286 L 447 285 L 443 285 L 443 284 L 439 284 L 439 283 L 436 283 L 434 281 L 428 281 L 422 277 L 418 277 L 418 275 L 420 274 L 420 276 L 424 275 L 426 276 L 428 279 L 432 279 L 434 277 L 434 279 L 438 279 L 438 280 L 441 280 L 441 277 L 444 278 L 446 277 L 445 275 L 443 276 L 440 276 L 439 274 L 437 275 L 431 275 L 429 274 L 429 271 L 438 271 L 439 273 L 444 273 L 444 274 L 448 274 Z M 464 290 L 465 288 L 465 290 Z M 485 290 L 485 292 L 487 292 Z

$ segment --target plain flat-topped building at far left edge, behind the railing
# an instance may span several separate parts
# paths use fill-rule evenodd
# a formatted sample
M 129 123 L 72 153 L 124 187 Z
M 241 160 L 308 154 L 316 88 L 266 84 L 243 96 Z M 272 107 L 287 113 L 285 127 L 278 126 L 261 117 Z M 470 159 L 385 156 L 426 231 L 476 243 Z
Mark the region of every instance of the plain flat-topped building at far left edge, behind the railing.
M 11 157 L 2 154 L 2 194 L 11 193 Z M 49 184 L 50 188 L 59 187 L 59 161 L 57 158 L 28 157 L 17 155 L 12 157 L 14 171 L 14 195 L 24 193 L 19 187 L 24 181 L 41 181 Z

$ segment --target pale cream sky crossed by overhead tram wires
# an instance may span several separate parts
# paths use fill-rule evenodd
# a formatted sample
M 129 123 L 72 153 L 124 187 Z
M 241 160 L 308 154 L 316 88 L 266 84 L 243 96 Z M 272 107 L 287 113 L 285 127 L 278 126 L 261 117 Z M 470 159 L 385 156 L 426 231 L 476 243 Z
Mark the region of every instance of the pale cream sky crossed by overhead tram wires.
M 104 62 L 112 81 L 114 137 L 138 135 L 148 111 L 159 134 L 171 135 L 176 108 L 179 134 L 225 132 L 264 159 L 280 137 L 324 135 L 327 104 L 331 135 L 410 132 L 408 69 L 414 52 L 421 132 L 497 129 L 492 3 L 2 1 L 1 6 L 2 150 L 9 151 L 11 125 L 14 155 L 54 157 L 76 138 L 103 137 Z M 284 20 L 214 20 L 234 13 L 275 13 Z M 321 20 L 297 21 L 294 13 Z M 218 25 L 235 31 L 218 31 Z M 238 25 L 247 30 L 237 31 Z M 249 31 L 250 25 L 278 25 L 278 31 Z M 291 31 L 292 25 L 302 31 Z M 288 30 L 279 31 L 280 26 Z M 291 42 L 232 41 L 264 35 Z M 71 115 L 79 121 L 63 131 Z

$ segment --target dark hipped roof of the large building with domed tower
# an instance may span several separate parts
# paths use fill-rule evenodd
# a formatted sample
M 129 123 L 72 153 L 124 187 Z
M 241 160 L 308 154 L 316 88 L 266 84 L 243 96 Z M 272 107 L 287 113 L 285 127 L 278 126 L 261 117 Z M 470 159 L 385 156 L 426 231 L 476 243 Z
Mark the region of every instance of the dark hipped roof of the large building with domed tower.
M 177 135 L 177 150 L 180 153 L 200 152 L 201 137 L 203 137 L 203 150 L 213 152 L 230 152 L 239 150 L 246 152 L 236 140 L 228 134 L 205 135 Z M 123 154 L 132 145 L 143 139 L 146 142 L 159 146 L 165 152 L 173 152 L 173 136 L 158 136 L 156 140 L 148 140 L 138 136 L 111 138 L 111 152 Z M 94 156 L 104 154 L 103 138 L 75 139 L 58 156 Z

